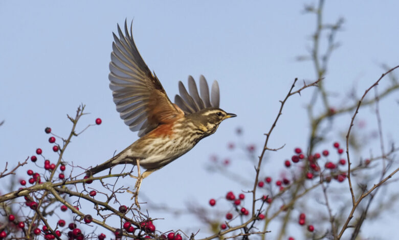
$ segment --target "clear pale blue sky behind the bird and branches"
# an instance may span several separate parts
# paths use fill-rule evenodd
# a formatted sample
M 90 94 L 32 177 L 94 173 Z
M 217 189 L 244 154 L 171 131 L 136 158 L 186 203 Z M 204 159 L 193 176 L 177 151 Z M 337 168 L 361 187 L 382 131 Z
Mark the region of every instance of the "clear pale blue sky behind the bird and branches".
M 192 200 L 207 206 L 210 198 L 228 190 L 238 192 L 242 186 L 209 174 L 205 165 L 209 156 L 217 153 L 232 159 L 232 171 L 253 175 L 252 165 L 242 168 L 238 163 L 242 156 L 229 152 L 227 142 L 237 141 L 234 130 L 242 127 L 246 142 L 254 143 L 259 152 L 263 133 L 278 112 L 278 101 L 294 78 L 315 79 L 312 62 L 295 61 L 311 44 L 315 16 L 303 14 L 302 9 L 313 2 L 1 1 L 0 121 L 4 119 L 5 124 L 0 127 L 0 163 L 24 160 L 38 147 L 55 160 L 43 130 L 50 126 L 54 133 L 66 136 L 70 130 L 66 114 L 74 114 L 81 103 L 91 113 L 82 119 L 81 129 L 97 117 L 103 124 L 76 138 L 65 160 L 85 167 L 95 165 L 138 138 L 119 118 L 108 88 L 112 32 L 117 23 L 134 18 L 138 49 L 171 99 L 178 93 L 179 80 L 186 83 L 192 75 L 198 81 L 203 74 L 208 81 L 218 80 L 221 108 L 238 115 L 222 123 L 192 151 L 145 179 L 143 195 L 158 204 L 180 207 Z M 352 88 L 361 94 L 378 79 L 382 63 L 399 64 L 399 2 L 326 2 L 325 21 L 345 18 L 337 37 L 342 45 L 334 52 L 324 80 L 338 106 Z M 263 175 L 278 176 L 282 160 L 292 149 L 307 147 L 304 106 L 311 92 L 295 96 L 287 104 L 271 139 L 271 147 L 284 143 L 286 147 L 273 153 Z M 395 100 L 397 93 L 381 103 L 387 141 L 399 139 Z M 375 129 L 371 108 L 364 111 L 359 117 Z M 330 141 L 342 142 L 340 132 L 347 130 L 349 118 L 349 114 L 342 117 L 344 127 L 335 126 L 336 135 L 328 136 Z M 152 217 L 164 217 L 162 212 L 149 211 Z M 192 218 L 171 219 L 161 222 L 159 228 L 202 226 Z M 386 219 L 380 223 L 386 229 L 381 232 L 383 238 L 397 230 L 397 223 L 387 224 Z M 376 234 L 370 232 L 370 236 Z

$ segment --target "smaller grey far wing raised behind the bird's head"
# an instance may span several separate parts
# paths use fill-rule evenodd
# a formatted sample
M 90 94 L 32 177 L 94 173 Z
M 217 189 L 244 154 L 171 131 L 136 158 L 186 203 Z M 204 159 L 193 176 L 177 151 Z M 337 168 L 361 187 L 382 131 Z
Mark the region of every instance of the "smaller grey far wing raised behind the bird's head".
M 175 95 L 174 103 L 178 105 L 185 114 L 194 113 L 204 108 L 219 107 L 219 85 L 215 80 L 212 84 L 211 98 L 209 97 L 209 87 L 205 77 L 200 77 L 200 93 L 194 79 L 188 77 L 188 92 L 183 83 L 179 82 L 179 93 Z M 201 97 L 200 97 L 201 94 Z

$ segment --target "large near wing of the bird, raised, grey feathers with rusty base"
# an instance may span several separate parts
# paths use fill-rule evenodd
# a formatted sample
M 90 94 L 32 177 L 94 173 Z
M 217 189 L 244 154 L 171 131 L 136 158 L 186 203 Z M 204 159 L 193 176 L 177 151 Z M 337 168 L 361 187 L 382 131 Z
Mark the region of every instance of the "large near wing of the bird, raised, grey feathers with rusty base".
M 141 137 L 184 114 L 170 102 L 157 76 L 148 69 L 137 50 L 131 28 L 129 35 L 125 20 L 125 33 L 119 25 L 119 37 L 113 33 L 108 78 L 117 111 L 130 130 L 139 131 Z

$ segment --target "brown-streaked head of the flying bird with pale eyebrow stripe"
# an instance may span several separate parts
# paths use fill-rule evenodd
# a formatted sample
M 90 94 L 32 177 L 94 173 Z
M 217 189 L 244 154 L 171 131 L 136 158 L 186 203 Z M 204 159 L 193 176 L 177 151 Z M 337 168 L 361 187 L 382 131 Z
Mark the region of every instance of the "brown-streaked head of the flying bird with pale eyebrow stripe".
M 205 108 L 201 111 L 190 114 L 194 124 L 207 135 L 214 133 L 219 124 L 227 118 L 235 117 L 236 114 L 227 113 L 220 108 Z

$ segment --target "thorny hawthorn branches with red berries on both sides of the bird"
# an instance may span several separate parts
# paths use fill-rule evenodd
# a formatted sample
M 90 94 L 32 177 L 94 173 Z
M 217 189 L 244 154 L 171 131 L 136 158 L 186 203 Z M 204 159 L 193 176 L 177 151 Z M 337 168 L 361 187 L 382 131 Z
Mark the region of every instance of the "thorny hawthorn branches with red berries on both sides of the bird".
M 323 3 L 320 0 L 317 7 L 306 6 L 305 11 L 315 14 L 319 22 Z M 395 162 L 395 153 L 399 149 L 393 143 L 385 146 L 379 112 L 380 100 L 399 89 L 399 83 L 392 74 L 399 66 L 385 69 L 382 76 L 364 89 L 364 94 L 356 101 L 339 107 L 331 106 L 331 96 L 324 81 L 328 61 L 337 47 L 335 36 L 342 24 L 343 19 L 338 19 L 332 24 L 320 22 L 317 25 L 311 54 L 298 58 L 311 60 L 317 76 L 314 81 L 293 81 L 280 101 L 279 111 L 274 113 L 272 125 L 264 133 L 263 144 L 249 144 L 243 139 L 239 143 L 228 143 L 228 149 L 237 153 L 235 156 L 245 156 L 240 158 L 254 165 L 252 174 L 247 176 L 229 171 L 227 166 L 234 159 L 219 160 L 217 155 L 211 157 L 208 170 L 231 178 L 244 190 L 234 193 L 225 189 L 220 196 L 210 196 L 208 203 L 189 208 L 190 214 L 211 229 L 211 233 L 202 239 L 266 239 L 270 231 L 276 239 L 357 239 L 370 215 L 375 218 L 390 210 L 386 207 L 370 214 L 375 196 L 382 191 L 380 189 L 388 186 L 389 179 L 399 171 Z M 324 53 L 320 53 L 323 34 L 327 35 L 324 42 L 327 47 Z M 392 80 L 391 85 L 377 91 L 375 87 L 388 77 Z M 309 94 L 311 89 L 308 88 L 313 89 L 312 101 L 306 107 L 309 116 L 306 127 L 310 130 L 308 142 L 303 146 L 291 146 L 287 141 L 278 148 L 271 147 L 270 137 L 275 128 L 280 127 L 278 122 L 286 102 L 293 95 Z M 373 97 L 370 97 L 371 90 L 374 90 Z M 317 101 L 320 108 L 316 108 Z M 361 124 L 356 120 L 364 106 L 373 106 L 378 119 L 376 139 L 380 142 L 381 155 L 362 156 L 356 151 L 358 146 L 353 132 L 361 131 L 357 129 Z M 47 158 L 46 152 L 37 148 L 35 153 L 16 165 L 5 163 L 0 179 L 9 192 L 0 196 L 0 238 L 198 239 L 197 232 L 158 229 L 158 219 L 143 212 L 134 203 L 125 205 L 133 202 L 126 198 L 126 193 L 134 189 L 120 184 L 119 180 L 130 177 L 134 167 L 126 165 L 119 173 L 88 177 L 83 174 L 87 166 L 76 165 L 64 158 L 71 139 L 102 123 L 101 118 L 96 118 L 93 124 L 81 128 L 79 119 L 87 117 L 85 114 L 85 106 L 81 105 L 74 116 L 68 116 L 72 123 L 68 136 L 56 135 L 51 126 L 45 128 L 43 134 L 49 137 L 52 151 L 58 154 L 57 159 Z M 345 126 L 340 126 L 345 137 L 324 138 L 331 131 L 329 125 L 343 114 L 351 116 Z M 243 130 L 238 128 L 236 133 L 240 138 Z M 271 159 L 267 155 L 275 151 L 285 151 L 286 159 Z M 269 161 L 281 161 L 281 168 L 264 170 Z M 28 166 L 26 172 L 22 168 L 25 165 Z M 275 178 L 274 172 L 282 174 Z M 16 175 L 20 179 L 16 179 Z M 340 193 L 349 193 L 350 198 L 346 199 Z M 394 193 L 389 199 L 394 199 Z M 388 203 L 380 204 L 390 206 Z M 92 208 L 82 208 L 82 205 Z M 218 217 L 210 218 L 214 212 L 218 212 Z M 297 226 L 293 235 L 289 228 L 292 224 Z

